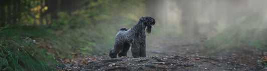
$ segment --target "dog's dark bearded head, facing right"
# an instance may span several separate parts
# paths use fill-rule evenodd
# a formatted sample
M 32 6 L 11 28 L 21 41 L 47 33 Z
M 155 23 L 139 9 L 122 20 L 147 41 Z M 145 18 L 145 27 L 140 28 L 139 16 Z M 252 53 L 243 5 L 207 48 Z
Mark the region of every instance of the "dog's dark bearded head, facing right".
M 146 32 L 150 33 L 151 27 L 154 27 L 153 25 L 155 25 L 155 19 L 152 17 L 141 17 L 140 21 L 147 27 Z

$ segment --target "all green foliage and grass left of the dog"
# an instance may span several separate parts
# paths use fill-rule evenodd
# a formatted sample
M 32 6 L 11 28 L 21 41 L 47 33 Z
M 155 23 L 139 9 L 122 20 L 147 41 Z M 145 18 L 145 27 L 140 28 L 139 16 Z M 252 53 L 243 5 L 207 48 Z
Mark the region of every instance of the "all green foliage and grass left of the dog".
M 40 16 L 40 0 L 22 0 L 24 11 L 19 17 L 10 17 L 9 6 L 5 4 L 7 19 L 0 28 L 0 69 L 7 71 L 53 71 L 55 58 L 71 58 L 71 53 L 105 55 L 115 40 L 120 27 L 130 28 L 144 16 L 143 0 L 85 0 L 86 5 L 72 12 L 57 11 L 57 19 L 52 14 Z M 10 2 L 10 1 L 7 1 Z M 14 1 L 13 1 L 14 2 Z M 27 6 L 25 6 L 27 5 Z M 17 13 L 17 12 L 16 12 Z M 40 19 L 42 17 L 43 19 Z M 41 24 L 40 20 L 47 20 Z M 7 26 L 12 24 L 12 26 Z M 27 26 L 26 26 L 27 25 Z M 29 26 L 30 25 L 30 26 Z M 39 26 L 32 26 L 39 25 Z M 1 25 L 2 26 L 2 25 Z M 33 44 L 38 39 L 53 43 L 46 49 Z M 29 42 L 30 41 L 30 42 Z M 58 66 L 58 65 L 56 65 Z

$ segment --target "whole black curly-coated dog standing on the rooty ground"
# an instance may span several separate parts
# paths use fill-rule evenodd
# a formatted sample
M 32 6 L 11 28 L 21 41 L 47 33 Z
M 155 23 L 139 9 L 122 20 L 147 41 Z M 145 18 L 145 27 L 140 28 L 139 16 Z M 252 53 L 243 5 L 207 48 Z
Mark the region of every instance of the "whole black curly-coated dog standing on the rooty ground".
M 134 58 L 146 57 L 146 34 L 151 32 L 151 27 L 155 24 L 155 19 L 152 17 L 141 17 L 138 23 L 127 30 L 120 28 L 115 38 L 115 45 L 109 52 L 110 58 L 127 56 L 127 52 L 132 44 L 132 54 Z

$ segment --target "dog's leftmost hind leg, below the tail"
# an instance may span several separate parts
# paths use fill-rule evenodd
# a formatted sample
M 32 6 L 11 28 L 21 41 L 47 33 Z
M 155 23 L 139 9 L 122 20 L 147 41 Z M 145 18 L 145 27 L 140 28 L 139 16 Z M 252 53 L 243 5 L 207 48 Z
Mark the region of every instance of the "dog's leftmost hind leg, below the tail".
M 117 54 L 122 50 L 123 44 L 121 42 L 115 42 L 114 47 L 109 52 L 110 58 L 117 58 Z

